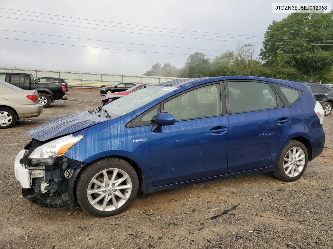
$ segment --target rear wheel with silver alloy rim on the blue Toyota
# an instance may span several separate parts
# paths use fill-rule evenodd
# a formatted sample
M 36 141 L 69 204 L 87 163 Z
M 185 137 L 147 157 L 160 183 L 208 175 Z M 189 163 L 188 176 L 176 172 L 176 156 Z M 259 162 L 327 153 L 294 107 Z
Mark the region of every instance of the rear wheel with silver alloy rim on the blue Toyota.
M 308 151 L 303 143 L 290 140 L 282 149 L 278 166 L 273 175 L 282 181 L 292 182 L 300 178 L 308 165 Z

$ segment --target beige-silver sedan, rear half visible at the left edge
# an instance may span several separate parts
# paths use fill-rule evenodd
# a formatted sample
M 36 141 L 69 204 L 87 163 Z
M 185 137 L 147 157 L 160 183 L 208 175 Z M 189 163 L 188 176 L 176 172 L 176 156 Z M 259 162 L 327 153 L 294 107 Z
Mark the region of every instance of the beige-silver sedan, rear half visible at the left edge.
M 23 90 L 0 80 L 0 129 L 13 127 L 17 120 L 37 117 L 42 112 L 37 91 Z

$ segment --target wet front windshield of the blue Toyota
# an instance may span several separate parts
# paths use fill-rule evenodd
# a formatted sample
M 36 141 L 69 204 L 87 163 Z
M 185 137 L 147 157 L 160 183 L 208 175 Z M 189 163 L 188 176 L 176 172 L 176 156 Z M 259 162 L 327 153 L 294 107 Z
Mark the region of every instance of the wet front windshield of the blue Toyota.
M 108 114 L 124 115 L 142 107 L 149 102 L 176 90 L 178 87 L 170 86 L 151 86 L 128 94 L 116 101 L 111 101 L 101 110 L 106 110 Z

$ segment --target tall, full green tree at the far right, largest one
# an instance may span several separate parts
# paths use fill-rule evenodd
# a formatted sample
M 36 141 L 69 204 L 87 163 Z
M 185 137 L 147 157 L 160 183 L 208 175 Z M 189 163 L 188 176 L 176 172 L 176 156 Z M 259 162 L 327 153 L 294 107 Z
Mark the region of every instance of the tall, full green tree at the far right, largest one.
M 294 68 L 313 81 L 333 65 L 331 41 L 333 11 L 328 14 L 293 13 L 268 26 L 260 56 L 267 66 L 285 69 L 280 72 L 281 76 L 289 77 Z M 279 55 L 288 58 L 281 59 Z M 285 67 L 281 67 L 282 61 Z

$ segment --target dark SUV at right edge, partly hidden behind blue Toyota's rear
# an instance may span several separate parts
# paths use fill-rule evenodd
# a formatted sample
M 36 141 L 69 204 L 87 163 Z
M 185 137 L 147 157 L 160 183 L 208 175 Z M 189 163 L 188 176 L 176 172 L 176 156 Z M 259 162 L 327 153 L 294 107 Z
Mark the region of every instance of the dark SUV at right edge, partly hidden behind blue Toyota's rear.
M 305 82 L 304 84 L 306 84 L 306 88 L 322 105 L 325 116 L 330 115 L 333 105 L 333 89 L 324 83 Z

